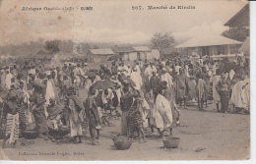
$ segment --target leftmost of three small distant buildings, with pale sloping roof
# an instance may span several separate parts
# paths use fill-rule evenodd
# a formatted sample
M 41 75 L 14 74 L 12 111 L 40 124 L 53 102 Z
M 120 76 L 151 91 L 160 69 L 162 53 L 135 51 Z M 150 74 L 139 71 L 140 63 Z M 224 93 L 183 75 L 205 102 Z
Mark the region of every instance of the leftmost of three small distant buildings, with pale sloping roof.
M 87 53 L 89 63 L 106 62 L 115 53 L 110 49 L 90 49 Z

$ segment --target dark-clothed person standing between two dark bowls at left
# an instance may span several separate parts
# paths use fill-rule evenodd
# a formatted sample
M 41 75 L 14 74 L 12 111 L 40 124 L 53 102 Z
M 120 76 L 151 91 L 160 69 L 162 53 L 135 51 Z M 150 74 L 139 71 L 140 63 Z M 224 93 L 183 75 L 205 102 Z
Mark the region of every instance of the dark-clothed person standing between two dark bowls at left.
M 44 94 L 45 85 L 41 83 L 34 83 L 33 86 L 34 90 L 30 97 L 30 101 L 32 102 L 32 114 L 35 121 L 35 127 L 39 133 L 38 137 L 48 139 L 49 130 L 46 122 L 46 113 L 44 111 L 44 103 L 46 102 Z

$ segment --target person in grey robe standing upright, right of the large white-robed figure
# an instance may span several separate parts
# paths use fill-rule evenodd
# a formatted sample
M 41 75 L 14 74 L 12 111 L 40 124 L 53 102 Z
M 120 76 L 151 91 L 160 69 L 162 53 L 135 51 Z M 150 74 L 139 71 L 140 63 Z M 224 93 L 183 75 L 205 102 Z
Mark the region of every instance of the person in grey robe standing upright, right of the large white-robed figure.
M 180 104 L 184 101 L 184 108 L 186 108 L 186 98 L 188 94 L 188 78 L 183 74 L 183 70 L 179 70 L 179 75 L 176 76 L 175 80 L 175 93 L 176 103 Z

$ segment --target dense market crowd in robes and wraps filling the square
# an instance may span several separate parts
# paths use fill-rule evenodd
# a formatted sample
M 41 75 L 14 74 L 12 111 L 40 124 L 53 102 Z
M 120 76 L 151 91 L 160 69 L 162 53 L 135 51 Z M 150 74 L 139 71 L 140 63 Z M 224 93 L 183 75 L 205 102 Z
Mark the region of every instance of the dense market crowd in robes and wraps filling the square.
M 28 62 L 1 68 L 0 78 L 3 146 L 8 140 L 15 147 L 30 130 L 49 139 L 64 128 L 74 143 L 83 142 L 86 129 L 95 145 L 102 124 L 109 125 L 106 113 L 118 116 L 119 109 L 121 135 L 142 142 L 146 130 L 171 136 L 179 125 L 178 106 L 187 108 L 188 102 L 197 102 L 200 111 L 208 100 L 218 112 L 250 111 L 249 60 L 239 57 L 112 61 L 99 69 L 84 62 L 51 68 Z M 97 82 L 102 85 L 95 87 Z

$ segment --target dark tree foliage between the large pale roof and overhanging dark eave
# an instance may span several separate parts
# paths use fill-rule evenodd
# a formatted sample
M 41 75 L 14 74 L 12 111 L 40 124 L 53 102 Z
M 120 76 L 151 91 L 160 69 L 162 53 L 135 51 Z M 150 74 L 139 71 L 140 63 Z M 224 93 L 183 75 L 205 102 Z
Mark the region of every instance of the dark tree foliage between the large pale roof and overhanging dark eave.
M 246 27 L 233 27 L 225 30 L 222 35 L 243 42 L 250 35 L 250 30 Z

